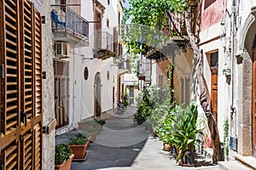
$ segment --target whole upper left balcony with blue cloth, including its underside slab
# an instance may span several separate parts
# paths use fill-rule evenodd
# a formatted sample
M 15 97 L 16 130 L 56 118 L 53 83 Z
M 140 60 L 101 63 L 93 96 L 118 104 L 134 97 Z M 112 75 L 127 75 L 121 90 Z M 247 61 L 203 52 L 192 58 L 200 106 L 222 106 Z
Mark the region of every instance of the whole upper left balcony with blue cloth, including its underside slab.
M 53 40 L 67 42 L 71 47 L 89 45 L 89 23 L 73 9 L 59 5 L 51 6 Z

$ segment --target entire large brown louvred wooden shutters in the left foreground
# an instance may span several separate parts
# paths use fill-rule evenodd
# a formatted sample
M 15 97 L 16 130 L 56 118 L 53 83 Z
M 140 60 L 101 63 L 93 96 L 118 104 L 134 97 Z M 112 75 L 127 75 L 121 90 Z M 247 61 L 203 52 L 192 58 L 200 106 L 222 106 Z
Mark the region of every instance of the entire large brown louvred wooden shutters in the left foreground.
M 1 169 L 42 169 L 41 38 L 33 3 L 0 1 Z

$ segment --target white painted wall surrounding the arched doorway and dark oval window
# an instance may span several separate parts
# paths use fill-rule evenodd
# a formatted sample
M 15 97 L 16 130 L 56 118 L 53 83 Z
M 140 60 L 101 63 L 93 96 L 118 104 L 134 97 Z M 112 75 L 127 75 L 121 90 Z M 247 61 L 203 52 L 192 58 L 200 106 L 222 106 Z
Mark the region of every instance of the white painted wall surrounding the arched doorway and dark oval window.
M 52 4 L 59 2 L 51 0 Z M 95 21 L 94 15 L 94 1 L 70 1 L 72 3 L 80 4 L 77 6 L 70 6 L 75 12 L 85 19 L 89 23 L 89 46 L 77 47 L 69 46 L 68 49 L 68 126 L 57 129 L 57 133 L 63 133 L 70 129 L 76 128 L 77 123 L 90 116 L 95 116 L 95 79 L 96 74 L 101 79 L 101 108 L 102 113 L 111 111 L 113 106 L 116 105 L 117 95 L 117 73 L 118 66 L 113 65 L 113 57 L 108 59 L 96 59 L 94 58 L 95 51 Z M 102 3 L 105 7 L 102 13 L 102 31 L 108 31 L 113 36 L 113 27 L 117 27 L 118 30 L 118 18 L 119 18 L 119 1 L 98 0 L 97 3 Z M 122 2 L 122 1 L 121 1 Z M 67 4 L 69 2 L 67 1 Z M 120 11 L 122 12 L 122 11 Z M 107 26 L 107 19 L 109 20 L 109 26 Z M 83 41 L 83 40 L 82 40 Z M 84 79 L 84 68 L 87 67 L 89 71 L 89 77 Z M 114 92 L 113 92 L 114 89 Z M 114 104 L 113 104 L 113 94 Z

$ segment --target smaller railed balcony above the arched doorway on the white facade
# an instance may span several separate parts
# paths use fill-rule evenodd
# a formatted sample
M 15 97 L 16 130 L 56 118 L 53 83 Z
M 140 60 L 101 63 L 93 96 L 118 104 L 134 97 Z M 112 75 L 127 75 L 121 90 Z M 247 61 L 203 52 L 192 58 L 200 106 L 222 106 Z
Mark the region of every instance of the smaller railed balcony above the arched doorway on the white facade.
M 116 54 L 117 42 L 114 42 L 113 35 L 108 31 L 98 30 L 95 32 L 94 58 L 108 59 Z

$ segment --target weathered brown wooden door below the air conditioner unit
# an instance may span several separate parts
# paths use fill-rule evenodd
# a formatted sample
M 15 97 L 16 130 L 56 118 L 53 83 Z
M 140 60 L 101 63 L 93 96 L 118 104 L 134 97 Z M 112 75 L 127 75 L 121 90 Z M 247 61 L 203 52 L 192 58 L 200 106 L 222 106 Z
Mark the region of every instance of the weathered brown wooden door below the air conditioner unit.
M 68 124 L 68 62 L 54 59 L 56 128 Z

